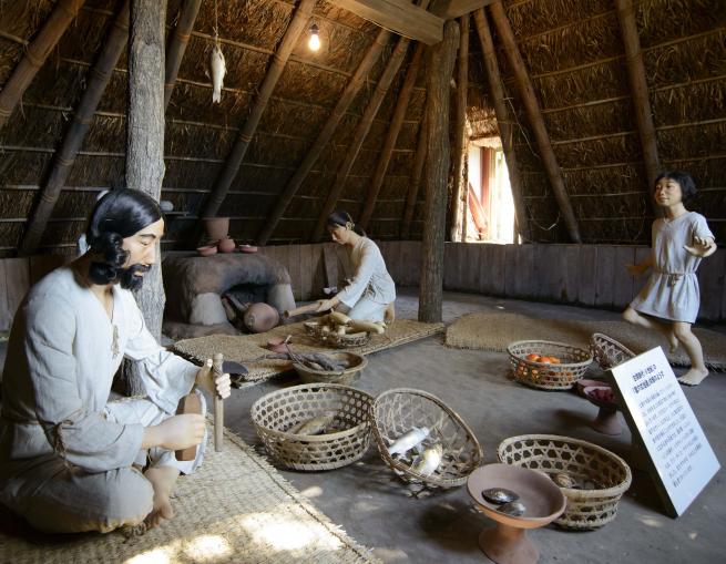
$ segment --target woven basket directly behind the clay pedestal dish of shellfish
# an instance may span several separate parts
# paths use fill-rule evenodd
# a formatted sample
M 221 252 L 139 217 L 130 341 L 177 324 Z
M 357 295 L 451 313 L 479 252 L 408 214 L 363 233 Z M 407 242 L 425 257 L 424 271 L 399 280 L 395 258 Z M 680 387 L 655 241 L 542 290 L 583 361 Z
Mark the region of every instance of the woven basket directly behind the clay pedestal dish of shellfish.
M 498 454 L 505 464 L 546 473 L 566 472 L 604 485 L 600 490 L 560 488 L 567 498 L 567 509 L 555 523 L 563 529 L 589 531 L 610 523 L 631 486 L 631 469 L 623 459 L 579 439 L 554 434 L 511 437 L 499 444 Z

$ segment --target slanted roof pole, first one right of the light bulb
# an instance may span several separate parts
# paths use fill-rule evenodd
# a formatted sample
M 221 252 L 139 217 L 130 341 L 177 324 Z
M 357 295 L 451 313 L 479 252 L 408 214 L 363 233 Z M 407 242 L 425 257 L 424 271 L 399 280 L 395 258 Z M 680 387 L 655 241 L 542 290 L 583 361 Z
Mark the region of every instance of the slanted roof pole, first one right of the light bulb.
M 350 82 L 342 91 L 342 94 L 340 94 L 338 103 L 333 109 L 328 121 L 323 126 L 323 131 L 318 135 L 318 139 L 315 140 L 315 143 L 308 151 L 307 155 L 305 155 L 300 166 L 297 167 L 297 171 L 295 171 L 295 174 L 288 181 L 285 189 L 283 189 L 283 193 L 277 198 L 275 207 L 273 208 L 269 217 L 265 222 L 265 225 L 257 236 L 258 245 L 265 245 L 267 240 L 269 240 L 269 237 L 273 235 L 275 227 L 277 227 L 277 224 L 282 219 L 285 209 L 287 209 L 287 206 L 295 197 L 295 194 L 303 184 L 305 177 L 310 173 L 310 170 L 320 156 L 323 148 L 325 148 L 325 145 L 327 145 L 330 141 L 330 137 L 338 126 L 338 123 L 340 123 L 342 115 L 346 113 L 348 106 L 350 106 L 354 99 L 358 94 L 360 86 L 362 86 L 366 80 L 366 75 L 370 72 L 374 64 L 376 64 L 376 61 L 378 61 L 378 58 L 380 57 L 384 47 L 386 47 L 388 43 L 390 37 L 390 31 L 380 30 L 372 44 L 368 48 L 368 51 L 364 55 L 362 61 L 360 61 L 360 64 L 358 64 L 358 69 L 356 69 L 356 72 L 350 79 Z

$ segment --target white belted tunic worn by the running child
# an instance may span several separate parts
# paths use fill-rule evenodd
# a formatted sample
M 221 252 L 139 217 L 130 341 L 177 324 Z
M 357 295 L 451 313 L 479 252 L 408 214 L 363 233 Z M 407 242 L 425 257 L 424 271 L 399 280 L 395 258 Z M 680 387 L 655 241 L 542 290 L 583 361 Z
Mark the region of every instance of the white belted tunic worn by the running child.
M 694 245 L 695 237 L 713 236 L 706 218 L 695 212 L 653 222 L 653 273 L 631 307 L 661 319 L 695 322 L 701 305 L 696 269 L 702 258 L 683 247 Z

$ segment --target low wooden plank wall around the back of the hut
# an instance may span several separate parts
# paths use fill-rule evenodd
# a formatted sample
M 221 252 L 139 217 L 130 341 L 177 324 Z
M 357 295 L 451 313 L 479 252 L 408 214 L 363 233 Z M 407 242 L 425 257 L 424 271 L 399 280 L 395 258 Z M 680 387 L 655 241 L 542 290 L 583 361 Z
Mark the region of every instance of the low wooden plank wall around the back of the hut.
M 398 286 L 418 286 L 421 269 L 419 242 L 379 243 Z M 346 249 L 335 243 L 263 247 L 259 253 L 285 265 L 296 300 L 323 297 L 329 276 L 338 287 L 352 276 Z M 650 249 L 626 245 L 489 245 L 447 243 L 443 287 L 447 290 L 571 304 L 622 310 L 645 283 L 633 279 L 625 265 L 642 262 Z M 326 268 L 326 257 L 328 265 Z M 32 284 L 64 257 L 57 255 L 0 259 L 0 331 Z M 331 260 L 337 263 L 331 264 Z M 698 269 L 701 315 L 726 320 L 726 249 L 705 259 Z

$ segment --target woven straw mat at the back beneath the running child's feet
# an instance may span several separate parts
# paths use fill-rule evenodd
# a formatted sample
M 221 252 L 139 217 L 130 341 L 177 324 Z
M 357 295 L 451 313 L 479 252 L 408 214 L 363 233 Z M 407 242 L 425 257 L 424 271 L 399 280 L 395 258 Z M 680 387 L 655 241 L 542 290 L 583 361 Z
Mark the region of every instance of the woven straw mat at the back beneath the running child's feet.
M 459 349 L 505 351 L 507 346 L 513 341 L 543 339 L 587 349 L 593 332 L 612 337 L 636 355 L 661 346 L 672 365 L 691 366 L 691 359 L 683 347 L 669 353 L 668 345 L 659 334 L 625 321 L 573 321 L 541 319 L 521 314 L 469 314 L 447 328 L 446 345 Z M 701 328 L 694 328 L 694 332 L 703 345 L 706 366 L 713 370 L 726 370 L 726 335 Z

